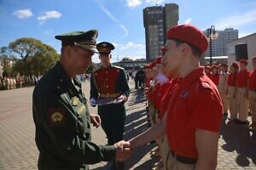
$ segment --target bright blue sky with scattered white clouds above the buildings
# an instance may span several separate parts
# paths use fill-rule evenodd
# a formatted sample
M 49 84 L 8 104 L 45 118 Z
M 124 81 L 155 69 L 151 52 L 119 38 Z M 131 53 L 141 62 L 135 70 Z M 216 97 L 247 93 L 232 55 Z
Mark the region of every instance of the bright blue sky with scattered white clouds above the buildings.
M 233 27 L 239 37 L 256 32 L 256 1 L 252 0 L 0 0 L 0 47 L 20 37 L 34 37 L 60 53 L 55 35 L 99 31 L 98 42 L 113 42 L 112 61 L 145 58 L 143 8 L 177 3 L 178 24 L 206 30 Z M 98 62 L 98 56 L 93 57 Z

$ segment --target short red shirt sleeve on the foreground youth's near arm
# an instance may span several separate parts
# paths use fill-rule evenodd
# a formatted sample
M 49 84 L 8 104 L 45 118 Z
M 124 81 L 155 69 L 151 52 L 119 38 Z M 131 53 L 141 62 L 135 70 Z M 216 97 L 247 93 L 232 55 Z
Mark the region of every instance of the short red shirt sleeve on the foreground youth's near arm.
M 193 99 L 193 102 L 190 102 L 189 107 L 192 108 L 189 127 L 219 132 L 223 106 L 218 94 L 214 94 L 211 89 L 204 88 Z

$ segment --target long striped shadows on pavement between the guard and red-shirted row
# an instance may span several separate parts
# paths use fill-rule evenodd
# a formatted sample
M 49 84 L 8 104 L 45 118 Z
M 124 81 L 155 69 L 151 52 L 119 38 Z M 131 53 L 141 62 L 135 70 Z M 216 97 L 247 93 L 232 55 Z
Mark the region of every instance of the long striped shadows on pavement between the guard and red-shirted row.
M 148 129 L 148 118 L 146 116 L 146 98 L 144 97 L 143 90 L 137 89 L 131 90 L 131 99 L 128 101 L 128 107 L 126 111 L 130 112 L 125 118 L 125 133 L 124 139 L 129 140 L 143 133 Z M 145 107 L 143 106 L 145 105 Z M 150 152 L 156 145 L 155 144 L 144 144 L 133 151 L 132 156 L 125 161 L 125 169 L 151 169 L 152 165 L 158 160 L 158 158 L 150 158 L 148 161 L 139 164 L 138 167 L 134 167 L 139 161 L 145 159 L 145 155 Z M 112 162 L 108 162 L 104 167 L 92 168 L 94 170 L 107 170 L 111 169 Z

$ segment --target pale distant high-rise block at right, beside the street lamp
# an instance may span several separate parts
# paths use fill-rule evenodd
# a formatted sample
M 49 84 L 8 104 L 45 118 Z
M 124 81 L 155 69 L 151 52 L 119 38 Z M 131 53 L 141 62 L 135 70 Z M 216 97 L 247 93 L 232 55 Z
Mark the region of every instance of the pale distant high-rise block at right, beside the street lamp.
M 212 56 L 228 55 L 228 42 L 238 39 L 238 30 L 226 28 L 224 31 L 217 31 L 218 38 L 212 40 Z M 205 31 L 207 33 L 207 31 Z M 208 47 L 205 56 L 210 56 L 210 46 Z

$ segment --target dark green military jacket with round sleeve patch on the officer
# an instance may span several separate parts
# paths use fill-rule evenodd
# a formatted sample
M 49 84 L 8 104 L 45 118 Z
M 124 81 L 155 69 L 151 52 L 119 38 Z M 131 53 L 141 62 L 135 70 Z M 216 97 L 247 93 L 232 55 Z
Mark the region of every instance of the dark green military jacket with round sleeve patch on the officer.
M 115 158 L 115 148 L 92 143 L 90 114 L 81 84 L 57 62 L 33 91 L 38 169 L 88 169 Z

